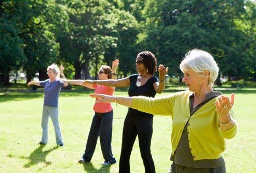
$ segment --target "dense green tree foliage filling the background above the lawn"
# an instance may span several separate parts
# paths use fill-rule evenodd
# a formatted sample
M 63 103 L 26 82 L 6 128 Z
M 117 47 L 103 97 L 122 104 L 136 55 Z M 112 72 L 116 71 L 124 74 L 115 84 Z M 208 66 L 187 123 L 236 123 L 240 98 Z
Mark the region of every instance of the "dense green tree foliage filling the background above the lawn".
M 144 50 L 179 77 L 180 61 L 195 48 L 212 53 L 229 80 L 255 80 L 255 19 L 255 3 L 244 0 L 1 1 L 0 82 L 20 68 L 28 81 L 37 71 L 47 77 L 53 62 L 73 69 L 68 76 L 96 77 L 115 58 L 127 76 Z

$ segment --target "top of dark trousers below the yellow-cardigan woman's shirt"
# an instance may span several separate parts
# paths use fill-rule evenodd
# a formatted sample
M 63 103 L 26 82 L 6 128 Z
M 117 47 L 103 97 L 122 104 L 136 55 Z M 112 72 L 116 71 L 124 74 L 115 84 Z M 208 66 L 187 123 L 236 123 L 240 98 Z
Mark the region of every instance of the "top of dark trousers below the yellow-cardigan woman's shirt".
M 192 168 L 172 163 L 169 173 L 226 173 L 226 167 L 222 166 L 219 168 Z

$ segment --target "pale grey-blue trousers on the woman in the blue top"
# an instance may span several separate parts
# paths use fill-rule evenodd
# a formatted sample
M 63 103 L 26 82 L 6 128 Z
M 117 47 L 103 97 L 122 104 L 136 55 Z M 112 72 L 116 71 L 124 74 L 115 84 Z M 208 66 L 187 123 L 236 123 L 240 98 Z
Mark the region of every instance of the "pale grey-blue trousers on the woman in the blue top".
M 41 139 L 42 144 L 46 144 L 48 142 L 48 121 L 49 117 L 51 117 L 53 127 L 55 130 L 55 136 L 56 136 L 56 143 L 57 145 L 63 145 L 59 120 L 59 107 L 53 107 L 53 106 L 43 106 L 43 116 L 42 116 L 42 129 L 43 129 L 43 135 Z

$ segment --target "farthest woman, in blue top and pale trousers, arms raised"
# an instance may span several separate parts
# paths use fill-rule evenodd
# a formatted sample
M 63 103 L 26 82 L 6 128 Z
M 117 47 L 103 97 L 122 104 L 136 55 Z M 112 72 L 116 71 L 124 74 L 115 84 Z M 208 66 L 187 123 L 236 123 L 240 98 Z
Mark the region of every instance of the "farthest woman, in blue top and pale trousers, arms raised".
M 43 106 L 43 116 L 42 116 L 42 129 L 43 129 L 43 136 L 39 144 L 45 145 L 48 142 L 48 120 L 51 117 L 54 129 L 55 129 L 55 136 L 56 136 L 56 143 L 58 146 L 62 147 L 64 145 L 61 129 L 59 125 L 59 96 L 61 87 L 67 86 L 67 82 L 63 82 L 60 80 L 59 75 L 62 78 L 65 78 L 63 73 L 63 66 L 60 66 L 60 70 L 57 65 L 52 64 L 47 68 L 48 79 L 45 81 L 31 81 L 28 83 L 30 85 L 37 85 L 42 86 L 44 88 L 44 106 Z

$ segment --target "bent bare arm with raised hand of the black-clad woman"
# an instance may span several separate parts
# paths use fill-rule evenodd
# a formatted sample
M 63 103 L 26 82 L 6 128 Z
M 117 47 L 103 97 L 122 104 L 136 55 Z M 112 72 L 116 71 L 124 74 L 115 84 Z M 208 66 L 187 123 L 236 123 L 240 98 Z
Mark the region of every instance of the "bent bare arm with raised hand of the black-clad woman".
M 158 72 L 159 82 L 154 83 L 154 88 L 157 93 L 161 93 L 165 89 L 165 76 L 168 73 L 168 67 L 165 69 L 163 65 L 159 65 Z

